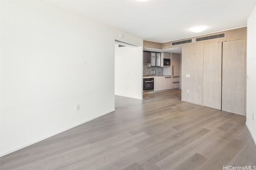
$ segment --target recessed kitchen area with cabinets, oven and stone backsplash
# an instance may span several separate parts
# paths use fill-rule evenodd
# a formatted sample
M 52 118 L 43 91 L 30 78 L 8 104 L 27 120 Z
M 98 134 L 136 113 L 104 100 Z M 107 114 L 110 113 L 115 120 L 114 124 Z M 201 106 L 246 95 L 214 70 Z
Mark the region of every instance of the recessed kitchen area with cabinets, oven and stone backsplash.
M 143 49 L 143 93 L 180 89 L 181 47 Z

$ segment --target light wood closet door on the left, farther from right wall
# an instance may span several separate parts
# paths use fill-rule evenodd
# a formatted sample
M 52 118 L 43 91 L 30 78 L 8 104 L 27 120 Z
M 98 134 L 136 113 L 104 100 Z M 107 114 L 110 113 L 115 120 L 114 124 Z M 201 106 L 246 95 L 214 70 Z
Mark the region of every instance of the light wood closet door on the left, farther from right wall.
M 203 106 L 221 110 L 222 43 L 204 44 Z

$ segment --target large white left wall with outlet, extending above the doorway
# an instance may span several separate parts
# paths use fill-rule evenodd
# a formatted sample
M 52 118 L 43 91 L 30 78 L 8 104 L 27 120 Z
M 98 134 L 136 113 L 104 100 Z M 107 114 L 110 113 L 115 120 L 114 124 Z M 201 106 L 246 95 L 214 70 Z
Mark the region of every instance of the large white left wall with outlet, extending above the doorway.
M 42 1 L 1 1 L 0 11 L 0 156 L 114 110 L 122 31 Z

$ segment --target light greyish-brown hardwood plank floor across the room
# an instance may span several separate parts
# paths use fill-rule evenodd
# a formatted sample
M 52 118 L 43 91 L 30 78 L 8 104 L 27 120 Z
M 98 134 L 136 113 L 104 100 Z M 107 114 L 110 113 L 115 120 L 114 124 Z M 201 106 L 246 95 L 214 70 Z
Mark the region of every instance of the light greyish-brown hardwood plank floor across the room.
M 116 96 L 116 111 L 0 158 L 1 170 L 223 170 L 256 165 L 246 117 L 180 90 Z

